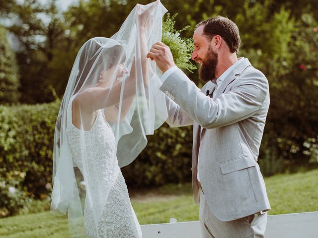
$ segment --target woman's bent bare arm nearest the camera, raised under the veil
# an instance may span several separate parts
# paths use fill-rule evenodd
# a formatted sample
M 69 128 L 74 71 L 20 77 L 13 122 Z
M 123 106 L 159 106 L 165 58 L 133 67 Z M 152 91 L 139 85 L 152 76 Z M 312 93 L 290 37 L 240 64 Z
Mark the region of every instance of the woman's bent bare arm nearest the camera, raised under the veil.
M 125 80 L 123 100 L 125 100 L 126 103 L 122 106 L 121 117 L 126 117 L 129 112 L 133 100 L 128 99 L 136 94 L 136 86 L 138 90 L 148 88 L 150 63 L 147 59 L 147 31 L 153 20 L 151 16 L 152 10 L 153 8 L 148 8 L 143 12 L 138 12 L 136 24 L 140 34 L 140 40 L 137 40 L 136 50 L 138 51 L 138 49 L 140 49 L 140 56 L 138 54 L 135 55 L 135 59 L 131 66 L 130 76 Z M 136 70 L 140 68 L 141 70 Z M 74 99 L 74 103 L 80 105 L 87 113 L 92 113 L 98 109 L 113 107 L 120 102 L 122 83 L 123 82 L 116 83 L 108 88 L 88 88 L 79 93 Z M 125 113 L 123 114 L 123 112 Z M 114 117 L 116 116 L 114 115 Z

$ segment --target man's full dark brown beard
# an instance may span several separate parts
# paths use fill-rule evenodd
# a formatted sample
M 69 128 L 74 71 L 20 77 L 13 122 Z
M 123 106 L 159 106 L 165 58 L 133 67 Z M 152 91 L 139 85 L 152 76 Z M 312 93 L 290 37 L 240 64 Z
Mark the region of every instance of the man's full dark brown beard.
M 207 59 L 202 60 L 199 76 L 203 82 L 208 82 L 215 78 L 215 68 L 218 64 L 218 54 L 212 51 L 212 48 L 209 47 L 206 54 Z

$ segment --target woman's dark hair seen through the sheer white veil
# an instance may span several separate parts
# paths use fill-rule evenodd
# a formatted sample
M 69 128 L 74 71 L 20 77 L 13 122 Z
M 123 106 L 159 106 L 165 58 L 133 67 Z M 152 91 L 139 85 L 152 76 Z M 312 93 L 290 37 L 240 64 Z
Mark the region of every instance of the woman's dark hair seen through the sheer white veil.
M 107 63 L 104 63 L 106 57 Z M 94 38 L 88 40 L 84 44 L 79 58 L 79 72 L 74 85 L 76 88 L 75 93 L 79 92 L 91 70 L 95 71 L 99 68 L 107 70 L 124 61 L 125 54 L 122 45 L 115 45 L 105 49 Z M 94 68 L 92 69 L 92 67 Z

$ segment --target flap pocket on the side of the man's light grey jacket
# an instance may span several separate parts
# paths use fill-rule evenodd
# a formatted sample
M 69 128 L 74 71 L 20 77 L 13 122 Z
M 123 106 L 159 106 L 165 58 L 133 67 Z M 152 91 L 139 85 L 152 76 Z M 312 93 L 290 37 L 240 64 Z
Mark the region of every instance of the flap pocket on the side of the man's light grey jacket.
M 256 161 L 250 155 L 245 155 L 233 160 L 228 160 L 220 163 L 220 169 L 223 175 L 253 166 L 256 166 Z

